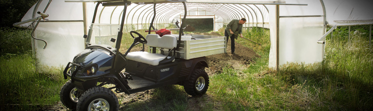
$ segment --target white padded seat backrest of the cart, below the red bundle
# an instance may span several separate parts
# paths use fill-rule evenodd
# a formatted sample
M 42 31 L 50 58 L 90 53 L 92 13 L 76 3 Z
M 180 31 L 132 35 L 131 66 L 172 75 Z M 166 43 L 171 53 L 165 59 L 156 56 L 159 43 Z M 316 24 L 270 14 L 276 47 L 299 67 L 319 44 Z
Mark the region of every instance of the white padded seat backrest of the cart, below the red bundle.
M 146 36 L 146 40 L 148 41 L 146 45 L 150 47 L 172 49 L 177 45 L 176 37 L 169 35 L 160 37 L 158 34 L 148 34 Z

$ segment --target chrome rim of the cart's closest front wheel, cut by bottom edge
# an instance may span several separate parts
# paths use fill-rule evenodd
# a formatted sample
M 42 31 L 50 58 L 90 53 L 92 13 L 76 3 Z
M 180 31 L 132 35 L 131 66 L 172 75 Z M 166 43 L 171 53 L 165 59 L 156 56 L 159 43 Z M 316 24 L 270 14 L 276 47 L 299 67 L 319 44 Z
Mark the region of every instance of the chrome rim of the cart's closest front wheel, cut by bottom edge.
M 109 102 L 104 99 L 98 98 L 90 103 L 88 111 L 109 111 L 109 108 Z

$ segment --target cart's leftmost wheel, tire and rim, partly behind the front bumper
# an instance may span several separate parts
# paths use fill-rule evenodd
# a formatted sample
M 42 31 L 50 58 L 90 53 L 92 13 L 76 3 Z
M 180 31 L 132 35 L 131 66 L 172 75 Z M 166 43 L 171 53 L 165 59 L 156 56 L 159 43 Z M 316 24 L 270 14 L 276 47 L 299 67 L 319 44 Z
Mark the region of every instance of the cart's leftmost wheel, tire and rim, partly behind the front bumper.
M 71 80 L 67 81 L 61 88 L 60 99 L 63 105 L 70 110 L 76 109 L 76 103 L 78 102 L 78 97 L 76 97 L 75 86 L 71 83 Z

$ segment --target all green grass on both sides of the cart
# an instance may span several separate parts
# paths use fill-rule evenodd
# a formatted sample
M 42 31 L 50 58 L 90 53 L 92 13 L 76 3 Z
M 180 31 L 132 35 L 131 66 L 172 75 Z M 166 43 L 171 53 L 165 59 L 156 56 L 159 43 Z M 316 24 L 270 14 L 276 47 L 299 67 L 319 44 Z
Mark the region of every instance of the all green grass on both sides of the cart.
M 146 93 L 149 98 L 144 101 L 125 102 L 120 110 L 371 110 L 373 51 L 367 45 L 369 38 L 364 27 L 357 28 L 361 31 L 354 32 L 349 42 L 343 28 L 334 32 L 333 39 L 327 37 L 323 62 L 289 63 L 279 71 L 268 68 L 269 30 L 245 30 L 245 38 L 262 44 L 238 38 L 238 43 L 260 55 L 250 67 L 226 67 L 211 75 L 209 90 L 201 97 L 191 97 L 182 86 L 172 85 Z M 137 32 L 147 35 L 143 30 Z M 121 52 L 132 39 L 123 33 Z M 46 68 L 38 68 L 29 51 L 2 53 L 0 60 L 1 110 L 31 110 L 59 101 L 60 87 L 66 81 L 59 68 L 43 71 Z M 118 98 L 120 102 L 125 99 Z

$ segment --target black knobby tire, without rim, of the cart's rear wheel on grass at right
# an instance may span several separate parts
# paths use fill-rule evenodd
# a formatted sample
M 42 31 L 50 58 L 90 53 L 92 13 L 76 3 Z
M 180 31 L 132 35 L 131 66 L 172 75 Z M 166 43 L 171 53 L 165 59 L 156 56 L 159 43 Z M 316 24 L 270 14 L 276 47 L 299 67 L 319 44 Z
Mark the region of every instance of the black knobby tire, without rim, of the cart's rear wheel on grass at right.
M 197 79 L 203 77 L 205 85 L 202 90 L 198 91 L 196 88 Z M 189 95 L 203 95 L 206 93 L 207 88 L 209 88 L 209 75 L 207 75 L 204 69 L 194 69 L 192 75 L 188 80 L 184 81 L 184 90 Z

